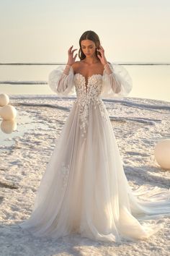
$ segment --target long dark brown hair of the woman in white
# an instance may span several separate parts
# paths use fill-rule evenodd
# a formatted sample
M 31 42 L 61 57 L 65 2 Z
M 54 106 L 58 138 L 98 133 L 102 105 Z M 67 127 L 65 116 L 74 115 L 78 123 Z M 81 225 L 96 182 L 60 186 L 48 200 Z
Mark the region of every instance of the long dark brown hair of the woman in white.
M 99 46 L 100 46 L 99 35 L 97 35 L 97 33 L 95 33 L 92 30 L 85 31 L 81 35 L 81 38 L 79 39 L 79 46 L 80 46 L 80 48 L 79 48 L 79 58 L 81 60 L 86 58 L 86 55 L 84 54 L 84 52 L 81 49 L 81 41 L 82 40 L 91 40 L 91 41 L 93 41 L 95 43 L 95 46 L 97 47 L 97 49 L 99 49 Z M 95 52 L 96 56 L 97 56 L 97 49 L 96 49 L 96 52 Z M 99 59 L 98 56 L 97 56 L 97 58 Z

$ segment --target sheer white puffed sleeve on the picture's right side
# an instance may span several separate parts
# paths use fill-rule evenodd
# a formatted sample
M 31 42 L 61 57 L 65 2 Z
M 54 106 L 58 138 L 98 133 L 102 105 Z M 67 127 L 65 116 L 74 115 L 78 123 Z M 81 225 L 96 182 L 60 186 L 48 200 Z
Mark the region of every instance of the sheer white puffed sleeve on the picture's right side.
M 114 63 L 109 63 L 111 74 L 107 74 L 104 69 L 102 77 L 102 98 L 124 97 L 133 88 L 133 81 L 128 71 Z

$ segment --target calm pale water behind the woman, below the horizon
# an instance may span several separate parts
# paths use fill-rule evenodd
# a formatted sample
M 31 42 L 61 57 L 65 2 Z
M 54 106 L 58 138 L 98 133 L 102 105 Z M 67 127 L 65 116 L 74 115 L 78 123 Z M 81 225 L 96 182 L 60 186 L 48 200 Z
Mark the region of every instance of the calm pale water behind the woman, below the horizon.
M 169 64 L 122 64 L 133 80 L 129 97 L 170 101 Z M 8 95 L 53 95 L 48 74 L 57 64 L 0 65 L 0 93 Z

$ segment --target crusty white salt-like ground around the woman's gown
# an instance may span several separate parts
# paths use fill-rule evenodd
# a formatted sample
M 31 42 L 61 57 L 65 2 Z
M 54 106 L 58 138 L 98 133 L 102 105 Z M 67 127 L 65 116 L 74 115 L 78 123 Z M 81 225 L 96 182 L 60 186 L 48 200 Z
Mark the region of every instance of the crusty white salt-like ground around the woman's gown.
M 170 103 L 139 98 L 104 102 L 130 186 L 168 189 L 170 170 L 158 166 L 153 150 L 158 140 L 170 137 Z M 4 135 L 6 141 L 0 148 L 0 255 L 169 255 L 169 218 L 165 218 L 165 228 L 150 239 L 122 244 L 94 242 L 79 235 L 65 236 L 55 242 L 35 239 L 23 231 L 17 223 L 32 212 L 40 179 L 73 99 L 13 95 L 10 103 L 17 108 L 18 127 L 11 135 Z

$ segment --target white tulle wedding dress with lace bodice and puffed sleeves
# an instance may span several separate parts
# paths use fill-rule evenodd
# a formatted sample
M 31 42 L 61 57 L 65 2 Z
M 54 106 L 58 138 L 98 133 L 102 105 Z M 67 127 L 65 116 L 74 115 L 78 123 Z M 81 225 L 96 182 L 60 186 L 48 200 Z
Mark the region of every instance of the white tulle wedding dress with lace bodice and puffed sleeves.
M 127 95 L 132 80 L 122 66 L 109 66 L 112 74 L 104 69 L 87 82 L 72 67 L 69 74 L 63 73 L 65 66 L 50 72 L 55 93 L 77 98 L 42 176 L 32 214 L 19 223 L 35 236 L 147 239 L 163 228 L 162 216 L 170 216 L 169 189 L 156 187 L 146 194 L 130 189 L 102 98 Z

